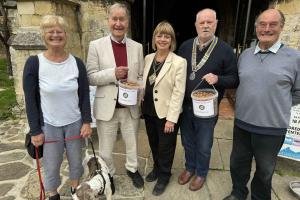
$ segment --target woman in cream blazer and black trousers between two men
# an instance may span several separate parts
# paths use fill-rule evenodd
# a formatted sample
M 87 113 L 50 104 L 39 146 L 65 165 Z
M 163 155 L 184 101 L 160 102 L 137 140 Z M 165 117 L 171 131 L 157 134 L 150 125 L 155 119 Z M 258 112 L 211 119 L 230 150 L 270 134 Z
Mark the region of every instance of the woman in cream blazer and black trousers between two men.
M 161 195 L 169 183 L 176 148 L 178 118 L 185 92 L 186 60 L 177 56 L 175 33 L 168 22 L 159 23 L 152 37 L 155 53 L 145 58 L 145 95 L 142 112 L 154 160 L 146 181 L 157 180 L 153 195 Z

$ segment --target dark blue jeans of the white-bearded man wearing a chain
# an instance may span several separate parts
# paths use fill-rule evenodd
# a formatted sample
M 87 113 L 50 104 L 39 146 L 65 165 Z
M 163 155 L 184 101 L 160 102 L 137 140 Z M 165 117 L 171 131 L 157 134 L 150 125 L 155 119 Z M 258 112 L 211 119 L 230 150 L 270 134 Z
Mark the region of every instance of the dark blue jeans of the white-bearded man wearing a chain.
M 197 176 L 207 176 L 217 120 L 217 117 L 198 118 L 194 116 L 191 106 L 183 107 L 180 131 L 185 150 L 185 168 Z

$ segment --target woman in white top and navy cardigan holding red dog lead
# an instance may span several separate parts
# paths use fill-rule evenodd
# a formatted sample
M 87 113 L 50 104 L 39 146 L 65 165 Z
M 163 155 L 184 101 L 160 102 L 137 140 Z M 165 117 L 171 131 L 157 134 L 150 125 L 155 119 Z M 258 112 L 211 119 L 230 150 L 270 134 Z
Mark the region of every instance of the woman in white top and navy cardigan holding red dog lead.
M 65 20 L 47 15 L 40 28 L 47 50 L 26 61 L 23 89 L 31 141 L 35 146 L 45 142 L 45 190 L 49 192 L 50 200 L 57 200 L 60 199 L 57 188 L 61 184 L 64 149 L 69 162 L 72 194 L 83 173 L 80 137 L 89 137 L 92 133 L 89 85 L 83 62 L 64 50 L 67 41 Z

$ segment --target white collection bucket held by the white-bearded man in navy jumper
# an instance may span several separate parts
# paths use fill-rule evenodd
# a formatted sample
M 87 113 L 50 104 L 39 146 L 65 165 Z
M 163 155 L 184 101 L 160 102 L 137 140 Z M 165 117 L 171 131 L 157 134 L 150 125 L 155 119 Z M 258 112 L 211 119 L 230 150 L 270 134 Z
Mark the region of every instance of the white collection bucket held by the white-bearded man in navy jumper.
M 197 96 L 199 93 L 210 93 L 209 96 Z M 199 118 L 211 118 L 218 114 L 218 91 L 216 89 L 198 89 L 191 94 L 194 115 Z

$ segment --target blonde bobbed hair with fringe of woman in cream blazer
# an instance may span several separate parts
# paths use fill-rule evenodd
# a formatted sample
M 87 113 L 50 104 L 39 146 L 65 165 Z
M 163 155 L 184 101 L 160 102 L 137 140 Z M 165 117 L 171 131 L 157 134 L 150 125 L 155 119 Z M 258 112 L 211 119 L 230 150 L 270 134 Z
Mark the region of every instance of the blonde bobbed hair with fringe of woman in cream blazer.
M 159 24 L 157 24 L 156 28 L 153 31 L 152 35 L 152 49 L 156 50 L 155 45 L 155 36 L 157 34 L 167 34 L 171 36 L 171 45 L 170 45 L 170 51 L 175 51 L 176 49 L 176 37 L 175 37 L 175 31 L 172 27 L 172 25 L 167 21 L 162 21 Z

